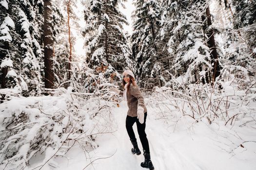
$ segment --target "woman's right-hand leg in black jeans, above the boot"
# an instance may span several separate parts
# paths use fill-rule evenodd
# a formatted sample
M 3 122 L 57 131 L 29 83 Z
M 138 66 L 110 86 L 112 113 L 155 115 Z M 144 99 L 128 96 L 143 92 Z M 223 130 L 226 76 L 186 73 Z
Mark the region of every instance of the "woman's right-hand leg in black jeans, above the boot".
M 145 151 L 145 153 L 150 153 L 148 139 L 147 139 L 147 135 L 145 133 L 146 118 L 147 118 L 147 113 L 145 113 L 145 115 L 144 115 L 144 123 L 141 124 L 137 119 L 136 124 L 137 124 L 139 139 L 142 144 L 143 150 Z

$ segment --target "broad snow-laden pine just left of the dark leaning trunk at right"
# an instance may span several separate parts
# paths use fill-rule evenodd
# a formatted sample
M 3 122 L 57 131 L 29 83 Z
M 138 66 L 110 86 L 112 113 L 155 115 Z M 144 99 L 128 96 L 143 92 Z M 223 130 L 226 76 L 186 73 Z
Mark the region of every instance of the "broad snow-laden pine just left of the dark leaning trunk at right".
M 207 36 L 204 36 L 201 18 L 205 14 L 206 1 L 167 0 L 162 5 L 162 9 L 170 9 L 162 11 L 159 32 L 166 43 L 161 50 L 164 55 L 169 54 L 164 62 L 173 63 L 169 72 L 176 78 L 181 76 L 179 80 L 183 83 L 210 82 L 211 50 L 205 44 Z M 173 82 L 176 81 L 171 80 L 167 85 Z

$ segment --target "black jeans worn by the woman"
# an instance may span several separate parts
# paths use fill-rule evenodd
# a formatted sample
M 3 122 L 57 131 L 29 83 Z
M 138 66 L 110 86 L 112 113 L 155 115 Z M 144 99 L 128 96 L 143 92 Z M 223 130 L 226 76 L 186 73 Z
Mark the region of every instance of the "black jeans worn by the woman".
M 145 128 L 146 128 L 146 118 L 147 118 L 147 113 L 144 115 L 144 123 L 141 124 L 138 121 L 137 117 L 130 117 L 127 115 L 126 117 L 126 130 L 128 132 L 128 135 L 130 137 L 130 140 L 136 140 L 134 131 L 133 131 L 133 125 L 136 122 L 137 124 L 137 130 L 138 130 L 138 136 L 140 139 L 140 142 L 142 144 L 143 150 L 145 150 L 146 153 L 149 153 L 149 144 L 148 144 L 148 139 L 147 135 L 145 133 Z

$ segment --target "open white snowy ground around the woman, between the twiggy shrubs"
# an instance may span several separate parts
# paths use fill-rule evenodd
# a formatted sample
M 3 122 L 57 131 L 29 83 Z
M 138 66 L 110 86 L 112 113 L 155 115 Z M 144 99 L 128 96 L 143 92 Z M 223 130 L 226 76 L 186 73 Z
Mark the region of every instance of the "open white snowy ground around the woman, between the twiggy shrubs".
M 207 119 L 202 119 L 192 127 L 183 124 L 183 128 L 173 131 L 164 119 L 157 119 L 159 115 L 153 105 L 147 107 L 146 133 L 156 170 L 256 170 L 255 128 L 224 126 L 221 122 L 210 125 Z M 140 167 L 143 155 L 130 151 L 132 145 L 125 129 L 127 109 L 126 103 L 121 102 L 112 111 L 117 131 L 98 136 L 97 149 L 84 153 L 76 145 L 65 157 L 55 158 L 57 168 L 42 169 L 145 170 Z M 136 132 L 136 124 L 134 129 Z

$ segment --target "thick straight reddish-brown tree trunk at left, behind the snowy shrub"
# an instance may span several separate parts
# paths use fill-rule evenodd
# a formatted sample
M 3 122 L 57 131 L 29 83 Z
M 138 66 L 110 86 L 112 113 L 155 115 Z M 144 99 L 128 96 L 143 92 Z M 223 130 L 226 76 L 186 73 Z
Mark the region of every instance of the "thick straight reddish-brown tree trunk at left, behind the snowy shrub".
M 44 0 L 43 9 L 43 44 L 44 44 L 44 85 L 45 88 L 54 87 L 53 72 L 53 27 L 51 0 Z

